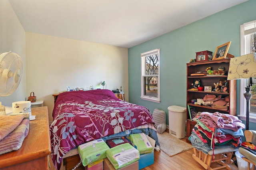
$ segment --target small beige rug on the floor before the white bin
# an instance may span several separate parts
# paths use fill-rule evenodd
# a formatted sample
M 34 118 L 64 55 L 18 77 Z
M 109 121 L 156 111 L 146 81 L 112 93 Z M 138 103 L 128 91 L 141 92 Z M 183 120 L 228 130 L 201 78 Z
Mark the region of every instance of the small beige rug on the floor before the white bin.
M 170 135 L 167 132 L 162 134 L 158 133 L 157 136 L 160 143 L 160 149 L 169 156 L 174 156 L 193 148 L 192 145 Z

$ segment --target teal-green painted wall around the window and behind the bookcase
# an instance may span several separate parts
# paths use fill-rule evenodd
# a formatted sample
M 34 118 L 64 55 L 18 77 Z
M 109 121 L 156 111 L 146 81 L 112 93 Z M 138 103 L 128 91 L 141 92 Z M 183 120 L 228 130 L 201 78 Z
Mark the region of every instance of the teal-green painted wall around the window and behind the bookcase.
M 240 25 L 256 20 L 256 0 L 244 2 L 128 49 L 129 102 L 167 114 L 168 106 L 186 107 L 186 63 L 196 52 L 212 51 L 232 41 L 228 53 L 240 56 Z M 140 99 L 140 53 L 160 48 L 160 103 Z M 238 83 L 237 100 L 240 98 Z M 237 110 L 240 107 L 238 104 Z M 250 123 L 254 129 L 256 125 Z M 250 128 L 251 129 L 251 128 Z

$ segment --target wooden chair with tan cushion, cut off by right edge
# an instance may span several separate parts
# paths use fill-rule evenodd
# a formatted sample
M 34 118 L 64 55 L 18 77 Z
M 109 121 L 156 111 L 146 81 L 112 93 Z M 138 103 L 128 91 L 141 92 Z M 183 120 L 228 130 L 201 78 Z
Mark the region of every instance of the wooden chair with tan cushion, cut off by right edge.
M 244 131 L 244 136 L 246 138 L 246 142 L 256 145 L 256 131 L 246 130 Z M 239 148 L 239 152 L 244 156 L 242 159 L 248 162 L 247 170 L 250 170 L 250 164 L 252 164 L 252 169 L 254 170 L 256 165 L 256 154 L 253 154 L 242 147 Z

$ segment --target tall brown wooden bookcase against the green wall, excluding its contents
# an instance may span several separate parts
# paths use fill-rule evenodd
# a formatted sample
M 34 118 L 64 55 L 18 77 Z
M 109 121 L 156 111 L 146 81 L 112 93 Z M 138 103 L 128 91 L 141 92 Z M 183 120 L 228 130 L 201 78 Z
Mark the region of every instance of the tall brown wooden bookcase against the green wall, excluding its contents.
M 204 92 L 204 91 L 194 91 L 189 90 L 191 88 L 191 84 L 195 82 L 195 80 L 200 80 L 202 86 L 211 86 L 212 89 L 215 88 L 214 83 L 217 83 L 220 81 L 220 79 L 227 80 L 227 73 L 229 68 L 229 62 L 230 59 L 219 59 L 219 60 L 213 60 L 213 61 L 201 61 L 201 62 L 195 62 L 195 63 L 187 63 L 187 92 L 186 92 L 186 102 L 188 106 L 196 107 L 197 111 L 208 111 L 210 113 L 214 113 L 216 111 L 220 113 L 226 113 L 230 115 L 236 115 L 236 80 L 228 80 L 229 82 L 229 92 Z M 207 67 L 211 67 L 212 70 L 218 70 L 220 66 L 224 66 L 226 75 L 223 76 L 190 76 L 191 74 L 195 72 L 205 72 L 205 69 Z M 229 97 L 229 107 L 228 110 L 221 110 L 212 108 L 211 106 L 201 106 L 198 104 L 192 104 L 192 99 L 203 99 L 206 94 L 214 94 L 217 96 L 221 95 L 222 98 L 225 98 L 226 96 Z M 187 122 L 186 122 L 186 141 L 188 140 L 188 137 L 191 134 L 191 131 L 196 125 L 196 122 L 190 119 L 190 114 L 187 108 Z

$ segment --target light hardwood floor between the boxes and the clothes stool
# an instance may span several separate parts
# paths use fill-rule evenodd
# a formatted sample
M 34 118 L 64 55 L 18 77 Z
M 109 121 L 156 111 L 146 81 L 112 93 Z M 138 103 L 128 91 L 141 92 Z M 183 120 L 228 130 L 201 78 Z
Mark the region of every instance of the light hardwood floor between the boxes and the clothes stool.
M 181 140 L 186 142 L 185 138 Z M 194 154 L 194 150 L 190 149 L 170 157 L 161 150 L 159 152 L 155 150 L 154 164 L 147 166 L 142 170 L 205 170 L 198 162 L 194 160 L 194 158 L 192 158 L 192 154 Z M 220 165 L 216 162 L 212 163 L 212 167 L 217 166 Z M 230 167 L 232 168 L 232 170 L 238 170 L 237 166 L 234 164 L 231 164 Z M 82 170 L 84 168 L 80 167 L 78 169 Z M 55 170 L 52 164 L 50 170 Z

